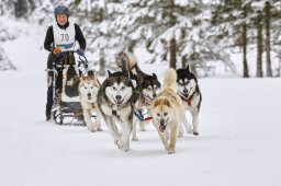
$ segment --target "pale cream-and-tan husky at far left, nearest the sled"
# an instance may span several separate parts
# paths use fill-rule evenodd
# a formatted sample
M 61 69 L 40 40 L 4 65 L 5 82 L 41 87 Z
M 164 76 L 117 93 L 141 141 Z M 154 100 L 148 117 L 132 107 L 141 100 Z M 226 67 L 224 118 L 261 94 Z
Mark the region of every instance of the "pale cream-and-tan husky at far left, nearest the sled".
M 79 84 L 79 97 L 80 103 L 83 109 L 83 118 L 88 129 L 91 132 L 102 131 L 101 129 L 101 113 L 98 108 L 98 91 L 101 86 L 99 80 L 93 74 L 93 72 L 89 72 L 88 77 L 82 75 Z M 91 120 L 92 112 L 95 113 L 95 121 L 94 124 Z

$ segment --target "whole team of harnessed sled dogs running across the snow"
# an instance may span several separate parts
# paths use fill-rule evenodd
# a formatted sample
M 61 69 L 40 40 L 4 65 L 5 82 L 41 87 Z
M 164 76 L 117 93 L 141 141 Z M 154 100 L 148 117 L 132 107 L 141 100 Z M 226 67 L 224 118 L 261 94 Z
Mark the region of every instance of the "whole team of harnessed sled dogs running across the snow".
M 195 75 L 186 69 L 168 69 L 162 88 L 155 73 L 140 70 L 136 58 L 126 53 L 116 55 L 117 72 L 108 71 L 101 84 L 94 73 L 82 75 L 79 96 L 85 123 L 91 132 L 101 131 L 103 118 L 114 143 L 123 151 L 130 150 L 130 138 L 138 140 L 140 130 L 153 123 L 168 154 L 176 152 L 177 138 L 187 133 L 198 136 L 198 116 L 202 95 Z M 192 115 L 192 125 L 186 112 Z M 91 120 L 92 112 L 97 117 Z

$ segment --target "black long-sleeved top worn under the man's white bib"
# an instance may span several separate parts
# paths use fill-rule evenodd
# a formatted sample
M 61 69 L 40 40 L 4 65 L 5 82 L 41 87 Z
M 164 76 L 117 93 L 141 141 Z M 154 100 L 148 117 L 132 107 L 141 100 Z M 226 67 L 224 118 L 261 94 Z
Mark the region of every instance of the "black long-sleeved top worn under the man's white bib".
M 58 24 L 58 26 L 60 28 L 67 28 L 69 26 L 69 22 L 66 23 L 66 25 L 64 26 L 60 26 Z M 75 23 L 75 33 L 76 33 L 76 40 L 78 40 L 79 43 L 79 46 L 82 50 L 86 49 L 86 39 L 83 37 L 83 34 L 80 30 L 80 27 Z M 52 51 L 53 48 L 54 48 L 54 32 L 53 32 L 53 26 L 49 26 L 48 30 L 47 30 L 47 34 L 46 34 L 46 37 L 45 37 L 45 42 L 44 42 L 44 48 L 48 51 Z

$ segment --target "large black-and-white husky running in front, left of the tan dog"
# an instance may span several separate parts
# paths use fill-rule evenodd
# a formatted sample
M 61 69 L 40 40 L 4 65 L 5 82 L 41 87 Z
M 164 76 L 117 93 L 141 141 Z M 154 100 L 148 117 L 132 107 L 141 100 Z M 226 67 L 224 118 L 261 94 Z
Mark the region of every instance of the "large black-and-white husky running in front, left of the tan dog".
M 134 104 L 138 100 L 135 86 L 126 72 L 109 72 L 98 93 L 98 106 L 109 127 L 115 144 L 123 151 L 130 150 Z M 121 132 L 117 123 L 121 124 Z

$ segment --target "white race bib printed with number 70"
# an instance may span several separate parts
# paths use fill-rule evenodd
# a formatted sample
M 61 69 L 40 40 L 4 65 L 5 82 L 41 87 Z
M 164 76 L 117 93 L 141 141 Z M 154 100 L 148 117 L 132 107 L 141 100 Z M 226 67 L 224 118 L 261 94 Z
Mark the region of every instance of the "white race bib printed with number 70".
M 66 30 L 60 28 L 57 24 L 53 25 L 54 44 L 61 51 L 75 50 L 75 24 L 69 23 Z

